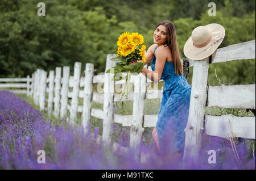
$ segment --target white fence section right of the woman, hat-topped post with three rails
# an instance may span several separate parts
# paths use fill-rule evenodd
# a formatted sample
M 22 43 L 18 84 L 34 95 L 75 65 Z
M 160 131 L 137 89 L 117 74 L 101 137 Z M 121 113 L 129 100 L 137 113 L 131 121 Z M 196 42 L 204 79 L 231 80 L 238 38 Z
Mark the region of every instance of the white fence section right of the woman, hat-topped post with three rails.
M 211 62 L 209 62 L 209 57 L 199 61 L 189 60 L 190 66 L 193 66 L 193 77 L 188 124 L 185 128 L 185 163 L 196 162 L 199 158 L 203 131 L 211 136 L 242 137 L 255 140 L 255 116 L 205 115 L 205 106 L 255 110 L 255 84 L 207 85 L 209 63 L 253 58 L 255 58 L 255 40 L 217 49 Z

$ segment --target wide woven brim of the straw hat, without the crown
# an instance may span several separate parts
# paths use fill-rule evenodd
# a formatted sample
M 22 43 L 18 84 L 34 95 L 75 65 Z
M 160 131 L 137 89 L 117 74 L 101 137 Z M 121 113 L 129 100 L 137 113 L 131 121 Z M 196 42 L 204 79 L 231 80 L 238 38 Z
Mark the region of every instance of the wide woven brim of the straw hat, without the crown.
M 186 57 L 192 60 L 203 60 L 209 57 L 213 52 L 220 46 L 222 38 L 225 36 L 225 29 L 220 24 L 212 23 L 204 26 L 212 32 L 212 39 L 209 41 L 205 47 L 197 48 L 193 45 L 192 37 L 189 37 L 184 45 L 183 52 Z M 217 42 L 218 40 L 218 42 Z

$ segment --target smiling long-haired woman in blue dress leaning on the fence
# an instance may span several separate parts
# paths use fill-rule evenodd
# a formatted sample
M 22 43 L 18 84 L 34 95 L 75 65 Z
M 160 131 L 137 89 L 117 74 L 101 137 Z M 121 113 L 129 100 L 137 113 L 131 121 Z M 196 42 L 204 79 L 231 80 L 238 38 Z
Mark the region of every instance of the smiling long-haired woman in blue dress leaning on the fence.
M 152 136 L 160 154 L 180 153 L 185 143 L 191 86 L 183 75 L 174 24 L 167 20 L 160 22 L 153 38 L 154 44 L 146 52 L 145 63 L 152 60 L 152 71 L 146 68 L 141 71 L 151 81 L 164 81 L 158 121 Z

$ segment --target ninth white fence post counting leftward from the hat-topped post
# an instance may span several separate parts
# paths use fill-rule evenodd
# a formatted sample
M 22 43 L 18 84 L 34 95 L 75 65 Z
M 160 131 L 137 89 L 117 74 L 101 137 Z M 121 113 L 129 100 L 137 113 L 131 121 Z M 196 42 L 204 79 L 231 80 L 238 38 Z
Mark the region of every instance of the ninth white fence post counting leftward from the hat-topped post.
M 44 70 L 40 70 L 40 98 L 39 98 L 39 106 L 40 111 L 45 110 L 45 104 L 46 104 L 46 78 L 47 78 L 47 72 Z

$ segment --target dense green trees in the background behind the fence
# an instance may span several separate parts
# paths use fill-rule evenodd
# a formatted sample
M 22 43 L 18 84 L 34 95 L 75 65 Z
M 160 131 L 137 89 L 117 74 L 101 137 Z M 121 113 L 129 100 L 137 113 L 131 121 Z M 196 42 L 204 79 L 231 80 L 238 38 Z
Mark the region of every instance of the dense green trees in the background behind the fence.
M 193 28 L 209 23 L 225 27 L 221 47 L 255 39 L 255 0 L 211 2 L 216 3 L 216 16 L 208 15 L 207 0 L 45 0 L 46 16 L 38 16 L 38 1 L 1 0 L 0 77 L 25 77 L 37 68 L 73 67 L 75 61 L 82 66 L 92 62 L 100 73 L 106 54 L 116 52 L 120 33 L 142 33 L 148 47 L 162 20 L 174 22 L 181 54 Z M 255 79 L 255 60 L 212 65 L 209 73 L 215 69 L 224 82 Z

